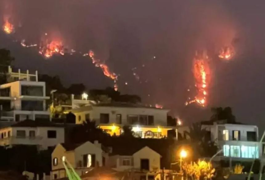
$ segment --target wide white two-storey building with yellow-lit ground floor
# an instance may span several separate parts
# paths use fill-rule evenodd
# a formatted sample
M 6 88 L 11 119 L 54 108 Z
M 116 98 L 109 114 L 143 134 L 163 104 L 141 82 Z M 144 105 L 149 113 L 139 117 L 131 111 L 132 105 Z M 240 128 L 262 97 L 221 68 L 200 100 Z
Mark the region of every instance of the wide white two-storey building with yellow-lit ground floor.
M 167 137 L 168 130 L 176 129 L 175 126 L 167 125 L 167 109 L 125 103 L 99 103 L 69 111 L 75 114 L 76 124 L 92 120 L 111 135 L 119 136 L 125 125 L 132 126 L 135 136 L 142 138 Z

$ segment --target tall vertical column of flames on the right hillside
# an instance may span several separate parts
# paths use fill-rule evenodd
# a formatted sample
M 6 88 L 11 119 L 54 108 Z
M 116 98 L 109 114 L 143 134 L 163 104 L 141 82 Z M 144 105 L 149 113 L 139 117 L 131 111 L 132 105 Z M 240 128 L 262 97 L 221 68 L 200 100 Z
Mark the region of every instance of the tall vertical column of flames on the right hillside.
M 206 53 L 203 53 L 202 56 L 199 56 L 196 53 L 193 62 L 193 74 L 195 78 L 195 87 L 197 88 L 197 95 L 193 100 L 186 102 L 185 105 L 196 102 L 200 106 L 205 106 L 206 97 L 208 94 L 208 86 L 210 83 L 210 68 Z

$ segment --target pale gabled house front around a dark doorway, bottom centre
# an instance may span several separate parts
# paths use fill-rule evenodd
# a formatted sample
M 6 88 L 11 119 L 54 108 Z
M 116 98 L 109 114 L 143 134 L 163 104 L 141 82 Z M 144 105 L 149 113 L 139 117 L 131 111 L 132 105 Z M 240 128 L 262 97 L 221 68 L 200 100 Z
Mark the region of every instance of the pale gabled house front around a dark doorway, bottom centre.
M 161 155 L 147 146 L 134 153 L 132 157 L 133 167 L 136 169 L 141 168 L 141 159 L 149 159 L 149 170 L 153 171 L 156 168 L 157 170 L 160 170 Z

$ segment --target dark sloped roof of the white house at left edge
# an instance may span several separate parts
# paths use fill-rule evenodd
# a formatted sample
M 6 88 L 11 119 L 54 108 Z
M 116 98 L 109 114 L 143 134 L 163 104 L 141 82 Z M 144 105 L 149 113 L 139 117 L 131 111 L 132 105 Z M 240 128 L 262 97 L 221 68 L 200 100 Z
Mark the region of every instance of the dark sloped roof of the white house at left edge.
M 39 119 L 39 120 L 31 120 L 25 119 L 24 121 L 20 121 L 16 124 L 11 125 L 11 127 L 64 127 L 63 124 L 56 124 L 51 121 L 47 121 L 47 119 Z

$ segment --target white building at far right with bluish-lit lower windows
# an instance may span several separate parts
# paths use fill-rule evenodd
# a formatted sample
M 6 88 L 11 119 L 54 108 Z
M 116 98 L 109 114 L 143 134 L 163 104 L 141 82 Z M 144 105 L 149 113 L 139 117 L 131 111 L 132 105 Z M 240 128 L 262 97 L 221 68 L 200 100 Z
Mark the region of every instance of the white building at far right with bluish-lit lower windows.
M 220 122 L 219 122 L 220 123 Z M 221 159 L 233 158 L 234 160 L 253 160 L 262 157 L 262 145 L 258 141 L 258 127 L 244 124 L 217 124 L 202 125 L 208 131 L 211 141 L 216 142 L 222 151 Z M 187 126 L 179 127 L 178 133 L 184 135 L 189 131 Z

